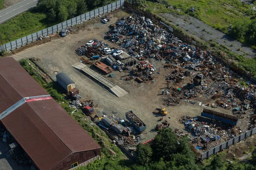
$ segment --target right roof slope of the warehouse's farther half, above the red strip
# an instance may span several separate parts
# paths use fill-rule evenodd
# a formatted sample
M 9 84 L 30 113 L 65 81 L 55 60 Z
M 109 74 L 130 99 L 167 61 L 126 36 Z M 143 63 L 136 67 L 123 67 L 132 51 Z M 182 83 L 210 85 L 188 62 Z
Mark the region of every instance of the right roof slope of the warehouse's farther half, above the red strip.
M 0 58 L 0 75 L 21 97 L 48 94 L 12 57 Z

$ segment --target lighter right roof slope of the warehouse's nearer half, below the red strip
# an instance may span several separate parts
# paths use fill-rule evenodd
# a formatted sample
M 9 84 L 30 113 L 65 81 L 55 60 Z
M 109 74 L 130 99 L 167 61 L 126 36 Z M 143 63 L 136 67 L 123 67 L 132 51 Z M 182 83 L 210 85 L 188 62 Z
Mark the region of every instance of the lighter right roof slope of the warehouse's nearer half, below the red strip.
M 54 99 L 33 101 L 28 105 L 73 152 L 101 148 Z

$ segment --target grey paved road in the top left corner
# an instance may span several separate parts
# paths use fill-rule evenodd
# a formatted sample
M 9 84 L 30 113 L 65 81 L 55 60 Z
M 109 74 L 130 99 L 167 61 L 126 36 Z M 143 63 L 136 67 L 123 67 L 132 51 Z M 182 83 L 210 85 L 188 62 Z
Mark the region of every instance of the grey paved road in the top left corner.
M 0 11 L 0 24 L 36 6 L 38 0 L 23 0 Z

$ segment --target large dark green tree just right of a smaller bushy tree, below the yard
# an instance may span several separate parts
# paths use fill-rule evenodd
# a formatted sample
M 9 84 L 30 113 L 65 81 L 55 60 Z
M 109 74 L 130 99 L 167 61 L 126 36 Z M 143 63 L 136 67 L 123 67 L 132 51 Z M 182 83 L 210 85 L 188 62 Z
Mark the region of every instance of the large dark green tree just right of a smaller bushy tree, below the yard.
M 177 135 L 171 129 L 162 129 L 157 132 L 153 146 L 157 159 L 171 160 L 172 154 L 177 152 Z

